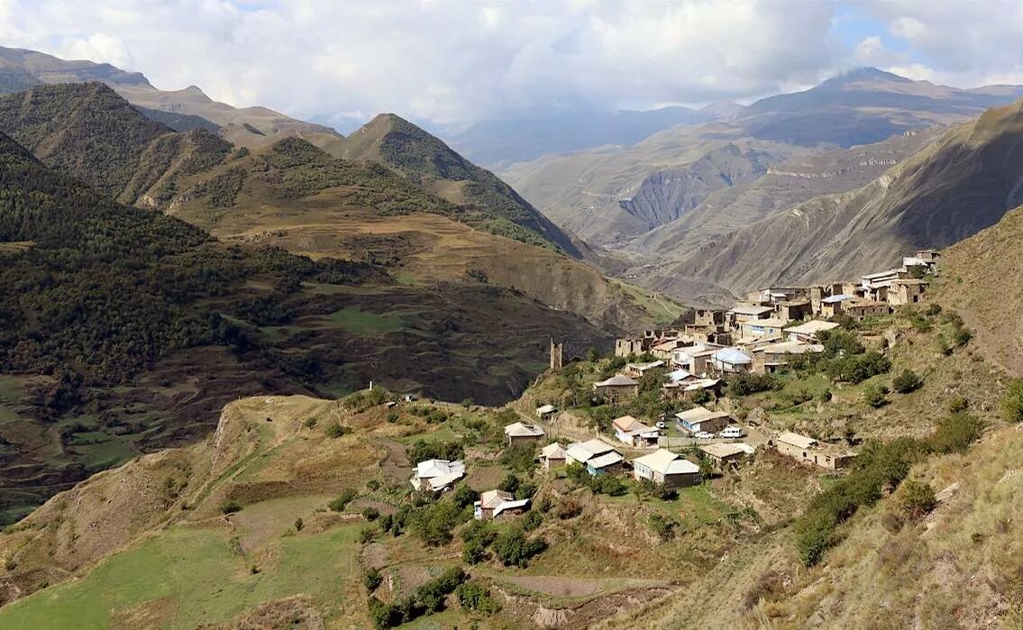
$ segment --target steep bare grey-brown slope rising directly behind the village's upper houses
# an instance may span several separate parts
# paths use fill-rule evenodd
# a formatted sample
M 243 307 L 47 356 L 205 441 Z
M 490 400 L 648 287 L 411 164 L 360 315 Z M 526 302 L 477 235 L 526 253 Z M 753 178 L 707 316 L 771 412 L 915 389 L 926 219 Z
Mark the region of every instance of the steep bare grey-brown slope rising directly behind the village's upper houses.
M 745 291 L 854 277 L 943 248 L 1023 201 L 1023 101 L 949 131 L 857 190 L 797 205 L 687 256 L 655 285 L 699 277 Z

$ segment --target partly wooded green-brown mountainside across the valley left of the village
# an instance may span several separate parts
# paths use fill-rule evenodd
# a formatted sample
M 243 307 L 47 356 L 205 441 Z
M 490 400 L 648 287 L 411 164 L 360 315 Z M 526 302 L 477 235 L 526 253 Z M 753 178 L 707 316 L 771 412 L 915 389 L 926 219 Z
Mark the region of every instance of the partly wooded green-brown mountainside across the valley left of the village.
M 0 134 L 4 521 L 238 395 L 500 402 L 551 339 L 582 353 L 682 312 L 397 117 L 335 138 L 344 160 L 175 131 L 88 82 L 0 96 Z

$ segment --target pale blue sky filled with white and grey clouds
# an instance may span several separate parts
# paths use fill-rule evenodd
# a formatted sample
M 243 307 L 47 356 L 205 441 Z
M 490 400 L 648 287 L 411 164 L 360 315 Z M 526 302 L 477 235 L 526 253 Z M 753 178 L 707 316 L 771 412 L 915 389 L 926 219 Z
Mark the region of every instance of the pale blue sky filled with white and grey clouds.
M 743 102 L 858 65 L 1023 83 L 1019 0 L 0 0 L 0 45 L 348 131 Z

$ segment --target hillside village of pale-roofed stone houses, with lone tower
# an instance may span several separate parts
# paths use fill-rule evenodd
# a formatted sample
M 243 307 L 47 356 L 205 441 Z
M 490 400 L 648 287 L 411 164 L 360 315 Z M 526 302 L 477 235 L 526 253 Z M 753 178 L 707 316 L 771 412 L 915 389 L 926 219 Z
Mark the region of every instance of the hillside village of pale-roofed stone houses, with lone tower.
M 904 257 L 901 267 L 863 275 L 858 282 L 752 291 L 728 310 L 698 310 L 694 322 L 681 328 L 619 339 L 611 366 L 621 369 L 592 382 L 591 400 L 627 404 L 653 376 L 660 401 L 678 411 L 650 418 L 621 415 L 593 437 L 563 444 L 544 429 L 559 414 L 555 404 L 544 402 L 535 408 L 534 418 L 504 426 L 507 444 L 544 443 L 537 464 L 544 470 L 575 465 L 590 477 L 629 474 L 636 482 L 666 489 L 698 485 L 709 474 L 740 465 L 758 448 L 818 469 L 839 470 L 855 457 L 848 444 L 791 431 L 767 435 L 755 421 L 742 426 L 724 398 L 725 384 L 750 379 L 748 387 L 755 392 L 758 376 L 825 353 L 822 342 L 843 325 L 918 304 L 939 256 L 934 250 L 919 251 Z M 563 346 L 551 342 L 552 371 L 564 367 L 563 353 Z M 671 449 L 691 454 L 687 458 Z M 431 459 L 416 463 L 410 483 L 416 490 L 440 493 L 464 476 L 461 461 Z M 522 513 L 529 501 L 495 489 L 482 493 L 475 505 L 476 518 L 489 520 Z

